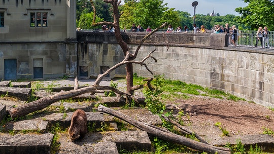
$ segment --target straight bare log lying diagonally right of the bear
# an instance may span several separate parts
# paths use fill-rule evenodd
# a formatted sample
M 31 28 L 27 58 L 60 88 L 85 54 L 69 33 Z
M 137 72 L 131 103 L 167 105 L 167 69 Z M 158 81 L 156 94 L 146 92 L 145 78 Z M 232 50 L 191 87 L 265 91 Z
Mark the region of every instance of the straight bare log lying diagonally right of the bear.
M 208 152 L 208 153 L 216 153 L 216 152 L 218 152 L 218 153 L 231 153 L 229 148 L 218 147 L 218 146 L 213 146 L 213 145 L 197 142 L 197 141 L 194 141 L 192 139 L 189 139 L 189 138 L 174 134 L 172 132 L 162 131 L 161 128 L 157 129 L 156 126 L 151 127 L 148 124 L 136 121 L 136 120 L 128 117 L 127 115 L 125 115 L 125 114 L 123 114 L 119 111 L 110 109 L 110 108 L 102 106 L 102 105 L 98 106 L 98 110 L 101 111 L 101 112 L 105 112 L 105 113 L 108 113 L 110 115 L 113 115 L 114 117 L 117 117 L 117 118 L 119 118 L 119 119 L 121 119 L 121 120 L 123 120 L 123 121 L 139 128 L 139 129 L 143 130 L 143 131 L 148 132 L 149 134 L 151 134 L 153 136 L 156 136 L 156 137 L 161 138 L 161 139 L 166 140 L 166 141 L 182 144 L 182 145 L 185 145 L 185 146 L 190 147 L 192 149 L 196 149 L 196 150 L 199 150 L 199 151 L 205 151 L 205 152 Z

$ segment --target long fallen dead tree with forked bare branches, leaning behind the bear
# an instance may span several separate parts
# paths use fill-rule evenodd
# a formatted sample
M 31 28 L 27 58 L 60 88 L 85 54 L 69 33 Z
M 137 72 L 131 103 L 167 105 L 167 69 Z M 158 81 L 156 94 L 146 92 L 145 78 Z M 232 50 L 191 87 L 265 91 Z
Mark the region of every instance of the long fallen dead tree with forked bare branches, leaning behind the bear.
M 123 61 L 121 61 L 120 63 L 114 65 L 113 67 L 108 69 L 103 74 L 99 74 L 98 78 L 96 79 L 96 81 L 93 85 L 85 87 L 85 88 L 80 88 L 80 89 L 77 89 L 77 90 L 70 90 L 70 91 L 60 92 L 60 93 L 57 93 L 55 95 L 52 95 L 52 96 L 49 96 L 49 97 L 43 97 L 39 100 L 36 100 L 36 101 L 30 102 L 30 103 L 23 104 L 21 106 L 12 108 L 12 109 L 9 110 L 11 118 L 22 117 L 24 115 L 27 115 L 28 113 L 31 113 L 31 112 L 34 112 L 34 111 L 37 111 L 37 110 L 41 110 L 41 109 L 49 106 L 50 104 L 52 104 L 56 101 L 62 100 L 62 99 L 72 98 L 72 97 L 79 96 L 79 95 L 85 94 L 85 93 L 102 93 L 102 91 L 104 91 L 104 90 L 112 90 L 120 96 L 121 95 L 126 95 L 128 98 L 134 99 L 135 102 L 138 102 L 138 100 L 136 100 L 131 94 L 129 94 L 127 92 L 119 91 L 118 89 L 116 89 L 114 87 L 111 87 L 111 86 L 100 86 L 99 84 L 102 81 L 102 79 L 105 78 L 105 76 L 107 74 L 114 71 L 119 66 L 122 66 L 122 65 L 127 64 L 127 63 L 131 63 L 131 64 L 135 63 L 135 64 L 140 64 L 140 65 L 145 65 L 147 70 L 151 72 L 151 70 L 145 64 L 145 61 L 148 58 L 152 58 L 156 61 L 156 58 L 151 56 L 151 54 L 154 51 L 149 53 L 149 55 L 147 55 L 141 61 L 129 61 L 128 57 L 131 54 L 129 52 L 127 52 L 127 54 L 125 56 L 125 59 Z

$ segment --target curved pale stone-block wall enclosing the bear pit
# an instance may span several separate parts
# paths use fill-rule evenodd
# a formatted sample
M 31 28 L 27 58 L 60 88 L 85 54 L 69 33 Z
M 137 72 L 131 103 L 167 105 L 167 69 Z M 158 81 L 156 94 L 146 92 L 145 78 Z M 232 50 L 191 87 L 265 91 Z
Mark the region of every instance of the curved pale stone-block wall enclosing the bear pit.
M 86 52 L 79 55 L 79 58 L 83 57 L 79 63 L 92 63 L 88 71 L 93 76 L 98 74 L 99 66 L 111 67 L 123 59 L 121 48 L 115 43 L 112 34 L 100 35 L 81 37 L 82 44 L 87 46 L 86 49 L 81 48 Z M 125 34 L 124 38 L 132 52 L 138 47 L 138 37 L 142 38 L 142 35 L 145 34 Z M 141 60 L 156 49 L 152 56 L 157 62 L 153 59 L 146 61 L 154 74 L 136 64 L 134 72 L 142 76 L 164 74 L 167 79 L 224 90 L 249 101 L 274 107 L 274 52 L 225 47 L 225 40 L 225 34 L 214 33 L 155 34 L 142 46 L 136 59 Z M 88 61 L 85 57 L 96 60 Z M 124 67 L 120 67 L 120 71 L 111 73 L 111 78 L 124 74 Z

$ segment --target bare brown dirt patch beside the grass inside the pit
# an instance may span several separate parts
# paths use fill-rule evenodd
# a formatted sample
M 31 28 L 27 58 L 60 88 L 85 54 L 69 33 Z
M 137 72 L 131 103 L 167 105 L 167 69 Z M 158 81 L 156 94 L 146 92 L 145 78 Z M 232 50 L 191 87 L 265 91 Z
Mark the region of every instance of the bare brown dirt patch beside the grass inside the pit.
M 213 126 L 220 122 L 230 135 L 262 134 L 274 130 L 274 111 L 259 104 L 216 98 L 178 99 L 176 104 L 190 115 L 192 126 Z

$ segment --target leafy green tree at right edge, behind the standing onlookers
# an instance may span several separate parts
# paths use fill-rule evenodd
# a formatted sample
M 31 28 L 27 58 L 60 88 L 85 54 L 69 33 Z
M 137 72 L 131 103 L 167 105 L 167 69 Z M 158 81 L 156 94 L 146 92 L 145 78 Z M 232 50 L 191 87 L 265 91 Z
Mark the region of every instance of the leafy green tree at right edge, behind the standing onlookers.
M 249 3 L 247 7 L 236 8 L 235 11 L 241 14 L 236 21 L 242 23 L 247 29 L 258 29 L 259 26 L 267 26 L 274 29 L 274 4 L 271 0 L 244 0 Z

